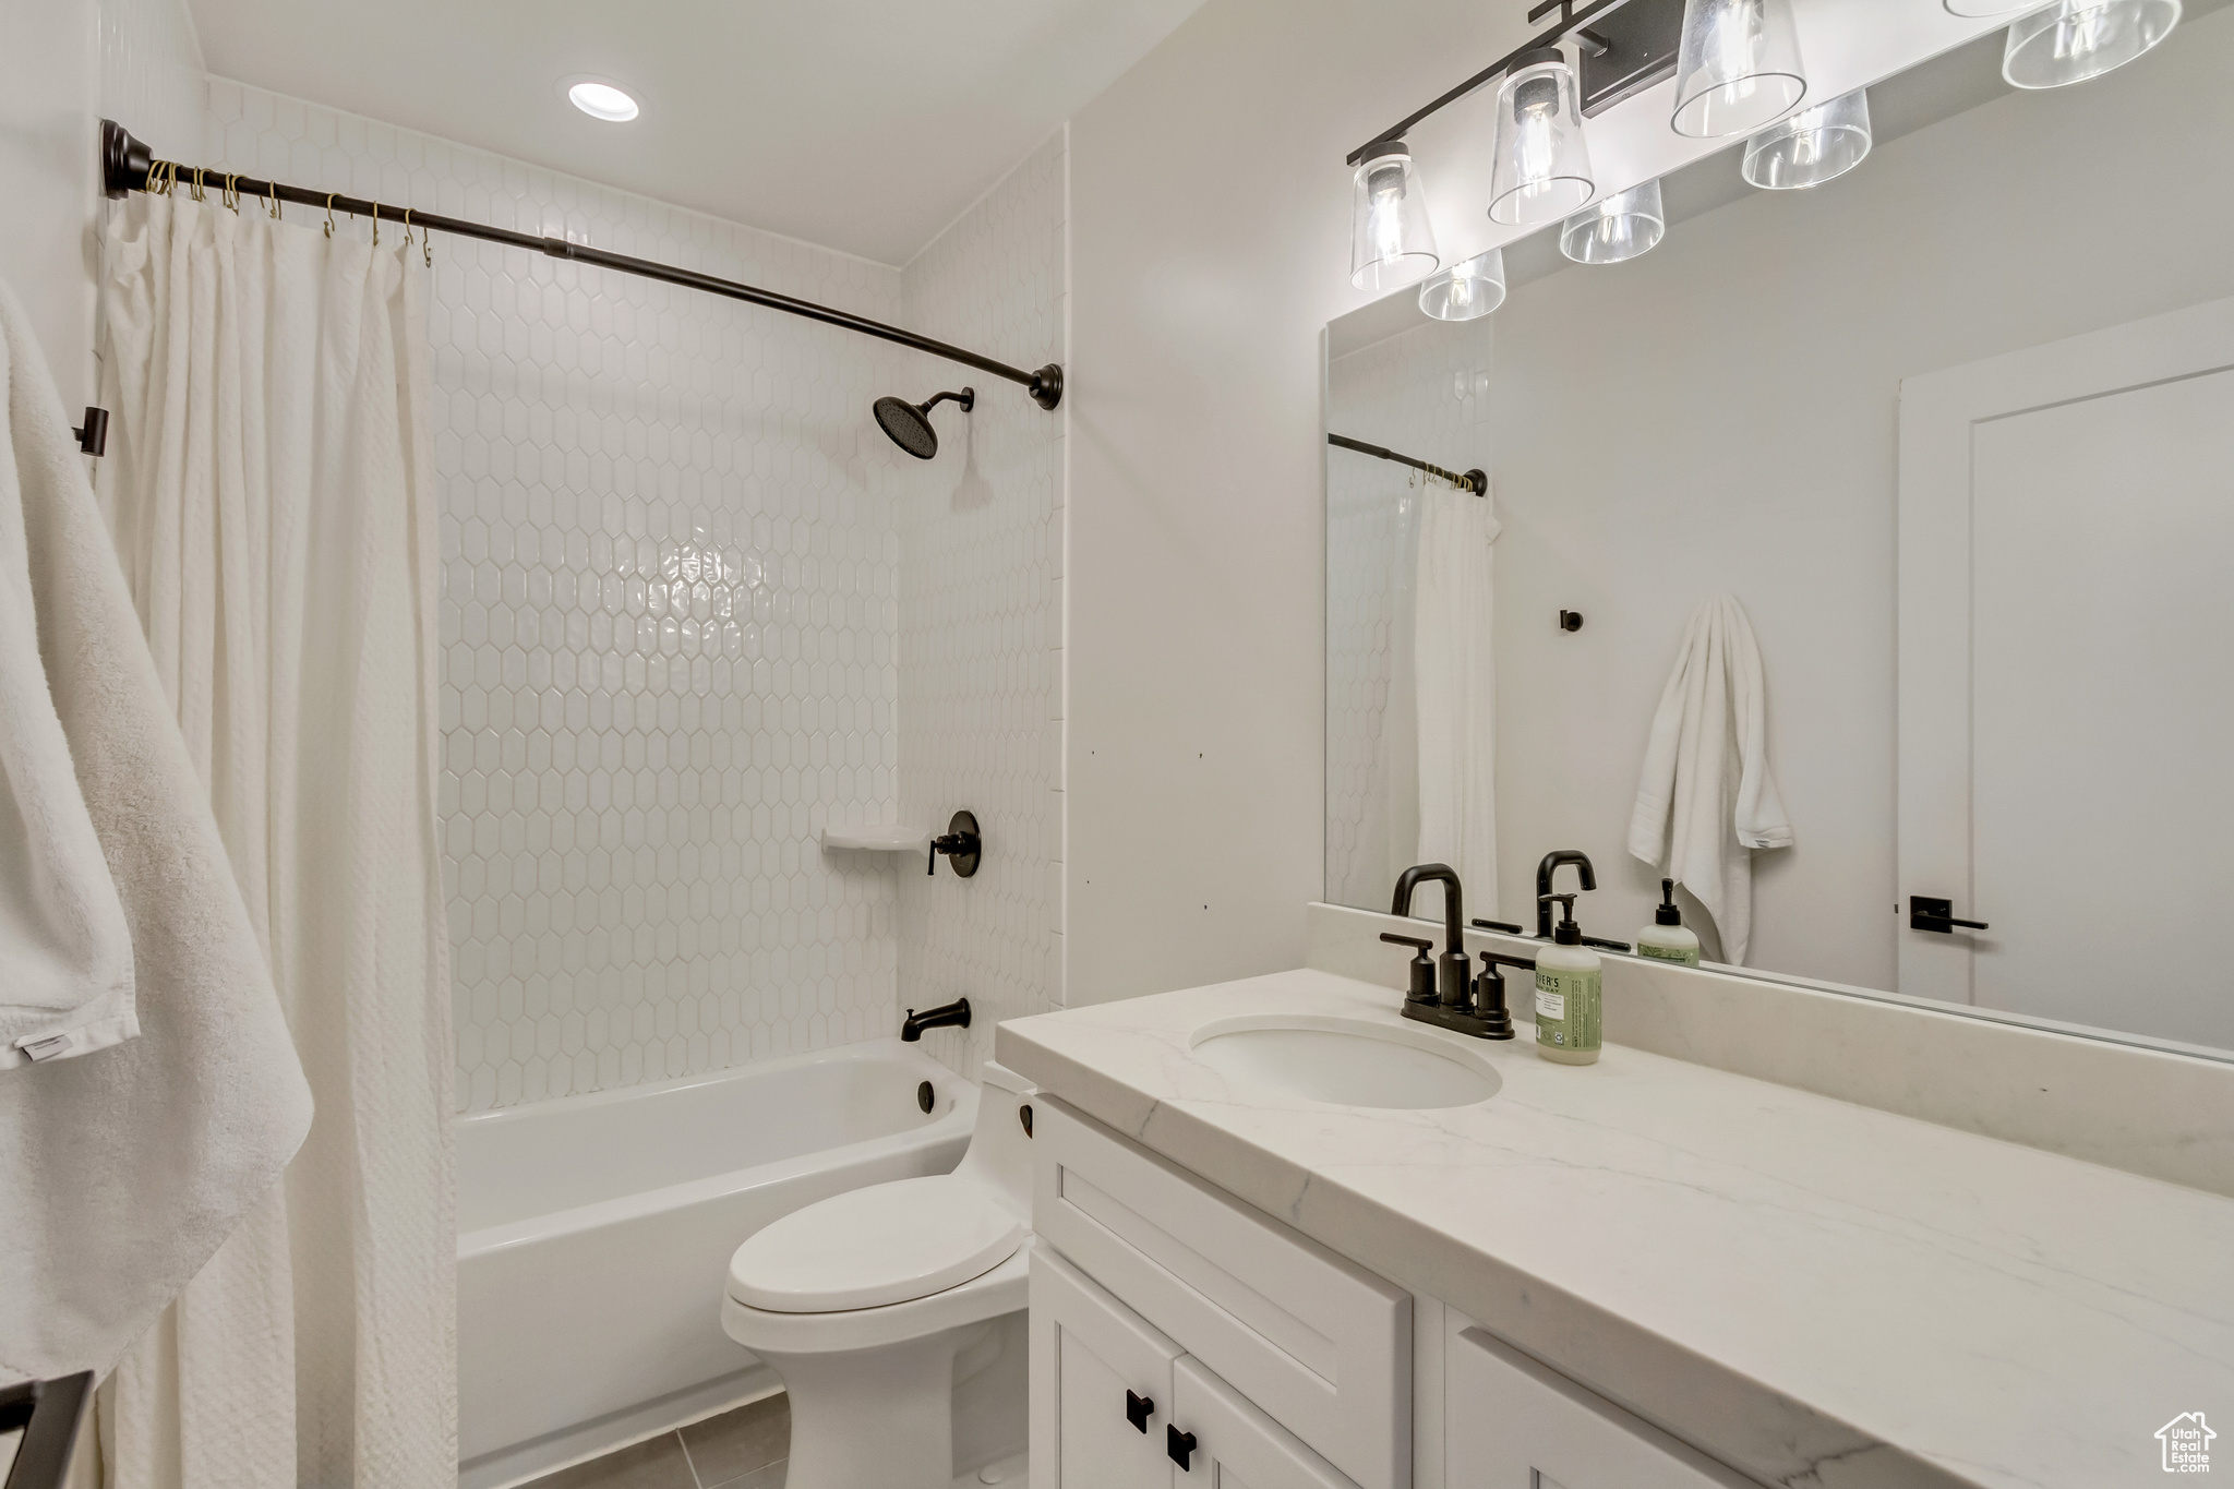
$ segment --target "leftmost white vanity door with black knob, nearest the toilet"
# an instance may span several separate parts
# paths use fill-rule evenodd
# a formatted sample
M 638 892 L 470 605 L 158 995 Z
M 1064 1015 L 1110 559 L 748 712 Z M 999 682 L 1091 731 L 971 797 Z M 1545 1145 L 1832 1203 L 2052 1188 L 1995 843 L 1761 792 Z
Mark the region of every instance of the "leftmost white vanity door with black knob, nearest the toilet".
M 1046 1246 L 1030 1297 L 1032 1489 L 1171 1489 L 1180 1346 Z

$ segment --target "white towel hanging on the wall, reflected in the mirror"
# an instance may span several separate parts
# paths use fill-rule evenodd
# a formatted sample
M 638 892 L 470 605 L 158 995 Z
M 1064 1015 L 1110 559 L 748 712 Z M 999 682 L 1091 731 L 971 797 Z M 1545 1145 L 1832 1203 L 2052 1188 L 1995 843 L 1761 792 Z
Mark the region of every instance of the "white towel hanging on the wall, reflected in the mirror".
M 1754 848 L 1789 848 L 1792 822 L 1769 775 L 1769 708 L 1754 627 L 1727 594 L 1691 614 L 1660 694 L 1629 851 L 1713 915 L 1722 960 L 1754 940 Z

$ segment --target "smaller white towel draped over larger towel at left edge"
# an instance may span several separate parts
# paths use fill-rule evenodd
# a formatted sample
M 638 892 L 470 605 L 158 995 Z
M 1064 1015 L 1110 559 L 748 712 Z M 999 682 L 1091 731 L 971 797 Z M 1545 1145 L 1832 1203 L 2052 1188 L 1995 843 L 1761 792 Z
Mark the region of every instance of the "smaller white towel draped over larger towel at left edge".
M 18 393 L 11 371 L 0 346 L 0 380 L 13 406 L 31 388 Z M 27 433 L 38 440 L 36 429 Z M 13 429 L 7 435 L 4 444 L 13 444 Z M 78 455 L 22 451 L 34 493 L 49 458 Z M 22 502 L 25 471 L 0 455 L 0 1072 L 139 1036 L 132 931 L 38 654 Z

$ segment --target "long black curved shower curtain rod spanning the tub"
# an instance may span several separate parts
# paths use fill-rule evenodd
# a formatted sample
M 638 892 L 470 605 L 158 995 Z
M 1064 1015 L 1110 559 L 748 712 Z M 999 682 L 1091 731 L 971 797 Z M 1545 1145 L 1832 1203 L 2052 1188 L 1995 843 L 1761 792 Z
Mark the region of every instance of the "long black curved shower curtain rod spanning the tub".
M 121 199 L 127 192 L 150 190 L 150 172 L 154 172 L 156 158 L 141 141 L 132 138 L 132 132 L 118 125 L 114 118 L 101 121 L 101 190 L 109 199 Z M 438 217 L 433 212 L 391 208 L 382 201 L 369 201 L 364 196 L 344 196 L 340 192 L 311 192 L 299 185 L 284 185 L 277 181 L 259 181 L 255 176 L 239 176 L 221 170 L 201 170 L 188 165 L 163 163 L 161 190 L 190 188 L 197 196 L 206 188 L 221 188 L 226 199 L 232 203 L 257 205 L 264 201 L 293 201 L 304 208 L 324 208 L 328 214 L 349 212 L 351 217 L 371 217 L 375 223 L 384 217 L 389 223 L 400 228 L 422 228 L 429 232 L 449 232 L 456 237 L 480 239 L 483 243 L 503 243 L 507 248 L 527 248 L 529 252 L 541 252 L 552 259 L 572 259 L 576 263 L 592 263 L 596 268 L 619 270 L 623 275 L 637 275 L 641 279 L 659 279 L 661 284 L 677 284 L 686 290 L 706 290 L 708 295 L 722 295 L 726 299 L 742 299 L 753 306 L 766 306 L 768 310 L 782 310 L 784 315 L 800 315 L 811 321 L 822 321 L 824 326 L 838 326 L 842 330 L 858 330 L 867 337 L 878 337 L 882 342 L 894 342 L 898 346 L 909 346 L 934 357 L 945 357 L 947 362 L 961 362 L 963 366 L 974 366 L 981 373 L 994 377 L 1005 377 L 1032 395 L 1041 409 L 1054 409 L 1063 402 L 1063 368 L 1057 362 L 1039 368 L 1037 373 L 1025 373 L 1021 368 L 1008 366 L 1005 362 L 994 362 L 992 357 L 981 357 L 974 350 L 963 350 L 961 346 L 949 346 L 945 342 L 934 342 L 932 337 L 920 337 L 914 330 L 900 330 L 898 326 L 887 326 L 882 321 L 871 321 L 865 315 L 853 315 L 849 310 L 833 310 L 831 306 L 818 306 L 811 299 L 793 299 L 791 295 L 777 295 L 775 290 L 762 290 L 751 284 L 739 284 L 735 279 L 717 279 L 715 275 L 701 275 L 688 268 L 675 268 L 670 263 L 652 263 L 650 259 L 632 259 L 630 254 L 608 252 L 603 248 L 590 248 L 588 243 L 570 243 L 565 239 L 538 237 L 534 232 L 512 232 L 509 228 L 489 228 L 485 223 L 469 223 L 456 217 Z

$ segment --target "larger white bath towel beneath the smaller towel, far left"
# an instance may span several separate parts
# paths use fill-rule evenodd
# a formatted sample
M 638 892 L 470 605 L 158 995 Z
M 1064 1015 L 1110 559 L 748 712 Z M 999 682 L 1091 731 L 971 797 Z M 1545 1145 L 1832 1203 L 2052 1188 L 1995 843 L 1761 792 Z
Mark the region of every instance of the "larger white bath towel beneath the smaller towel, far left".
M 311 1087 L 63 400 L 0 286 L 38 650 L 132 935 L 141 1036 L 0 1072 L 0 1384 L 107 1368 L 311 1127 Z

